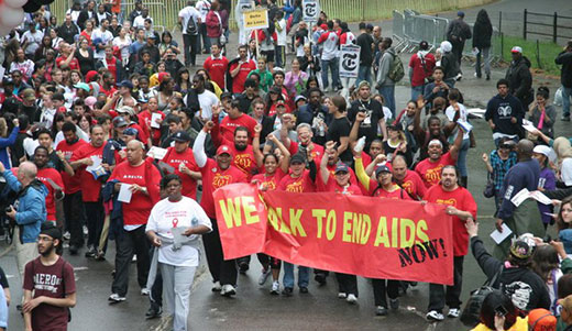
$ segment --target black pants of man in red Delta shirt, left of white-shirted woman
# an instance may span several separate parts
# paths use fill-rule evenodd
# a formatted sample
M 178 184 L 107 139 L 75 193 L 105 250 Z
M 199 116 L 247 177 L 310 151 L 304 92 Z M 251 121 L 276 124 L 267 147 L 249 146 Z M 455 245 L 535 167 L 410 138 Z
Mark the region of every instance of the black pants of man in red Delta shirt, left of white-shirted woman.
M 116 277 L 111 291 L 124 297 L 129 286 L 129 265 L 133 254 L 138 255 L 138 283 L 141 288 L 147 285 L 150 258 L 148 240 L 145 235 L 145 225 L 141 225 L 133 231 L 125 231 L 121 228 L 116 238 Z

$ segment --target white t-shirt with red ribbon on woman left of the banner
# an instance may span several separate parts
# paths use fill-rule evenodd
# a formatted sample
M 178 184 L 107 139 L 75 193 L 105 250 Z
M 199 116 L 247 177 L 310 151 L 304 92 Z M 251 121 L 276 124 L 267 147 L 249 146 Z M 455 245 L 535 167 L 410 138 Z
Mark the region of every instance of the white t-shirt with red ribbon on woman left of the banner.
M 168 198 L 158 201 L 148 217 L 145 232 L 153 230 L 155 233 L 173 239 L 173 228 L 195 228 L 206 225 L 212 230 L 209 217 L 197 201 L 183 197 L 178 202 L 170 202 Z M 198 240 L 199 235 L 189 236 Z M 158 262 L 174 266 L 198 266 L 199 251 L 190 245 L 183 245 L 180 250 L 173 251 L 173 245 L 162 245 L 158 250 Z

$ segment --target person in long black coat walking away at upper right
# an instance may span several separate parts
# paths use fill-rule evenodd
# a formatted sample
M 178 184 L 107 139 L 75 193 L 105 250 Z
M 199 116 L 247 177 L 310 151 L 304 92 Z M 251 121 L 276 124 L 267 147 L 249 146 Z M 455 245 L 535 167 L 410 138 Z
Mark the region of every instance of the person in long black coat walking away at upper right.
M 491 37 L 493 36 L 493 24 L 488 19 L 486 10 L 481 9 L 476 14 L 473 25 L 473 53 L 476 53 L 475 76 L 481 78 L 481 59 L 483 59 L 486 80 L 491 80 Z

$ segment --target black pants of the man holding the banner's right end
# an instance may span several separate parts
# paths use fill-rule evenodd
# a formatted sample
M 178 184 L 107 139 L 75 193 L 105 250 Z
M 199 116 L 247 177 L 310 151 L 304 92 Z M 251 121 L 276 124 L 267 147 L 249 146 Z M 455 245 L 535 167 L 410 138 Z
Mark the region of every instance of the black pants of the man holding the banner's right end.
M 449 308 L 461 308 L 461 289 L 463 285 L 464 256 L 453 257 L 453 286 L 447 286 L 447 294 L 441 284 L 429 284 L 429 311 L 442 312 L 444 305 Z

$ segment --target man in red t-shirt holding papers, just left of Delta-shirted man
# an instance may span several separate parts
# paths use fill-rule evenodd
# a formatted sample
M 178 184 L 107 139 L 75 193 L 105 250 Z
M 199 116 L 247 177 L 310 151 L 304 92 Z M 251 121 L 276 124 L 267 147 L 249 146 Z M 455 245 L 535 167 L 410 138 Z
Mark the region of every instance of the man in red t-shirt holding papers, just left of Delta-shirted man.
M 98 178 L 105 175 L 97 165 L 103 158 L 105 133 L 101 125 L 94 125 L 90 130 L 90 143 L 74 152 L 70 165 L 81 176 L 81 199 L 87 217 L 88 251 L 86 257 L 94 257 L 97 253 L 99 236 L 103 227 L 103 202 L 101 201 L 101 181 Z M 101 247 L 103 249 L 103 247 Z

